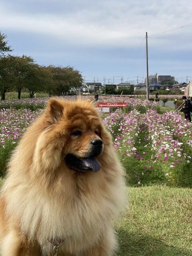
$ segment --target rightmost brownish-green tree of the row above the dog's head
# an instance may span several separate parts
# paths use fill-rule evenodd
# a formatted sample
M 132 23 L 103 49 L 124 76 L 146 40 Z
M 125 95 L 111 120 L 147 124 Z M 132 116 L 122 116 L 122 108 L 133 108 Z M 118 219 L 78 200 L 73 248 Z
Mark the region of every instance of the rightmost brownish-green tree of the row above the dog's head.
M 51 72 L 53 79 L 50 94 L 62 95 L 71 88 L 82 86 L 83 79 L 80 72 L 70 66 L 48 66 L 47 69 Z

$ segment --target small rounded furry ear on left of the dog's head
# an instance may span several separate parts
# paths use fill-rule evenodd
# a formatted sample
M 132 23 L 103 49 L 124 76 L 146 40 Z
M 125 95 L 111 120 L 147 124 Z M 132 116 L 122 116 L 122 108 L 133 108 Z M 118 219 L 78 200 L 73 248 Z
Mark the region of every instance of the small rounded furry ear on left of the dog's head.
M 63 114 L 63 106 L 56 98 L 48 101 L 48 114 L 53 122 L 58 122 Z

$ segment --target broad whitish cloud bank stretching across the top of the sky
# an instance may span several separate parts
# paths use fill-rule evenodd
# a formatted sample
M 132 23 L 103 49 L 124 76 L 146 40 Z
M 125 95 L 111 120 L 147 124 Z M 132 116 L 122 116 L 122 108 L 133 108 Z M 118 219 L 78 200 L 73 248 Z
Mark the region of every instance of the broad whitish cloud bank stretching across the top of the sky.
M 94 4 L 78 0 L 35 0 L 30 1 L 29 6 L 26 1 L 8 1 L 0 8 L 0 23 L 3 30 L 45 34 L 73 45 L 128 48 L 140 46 L 146 31 L 149 35 L 157 34 L 190 22 L 186 17 L 190 17 L 191 11 L 188 0 L 99 0 Z M 192 39 L 185 28 L 169 33 L 181 39 L 186 35 Z M 165 40 L 158 41 L 161 47 L 167 44 Z M 150 44 L 155 45 L 156 40 L 151 40 Z M 177 42 L 177 45 L 182 43 Z

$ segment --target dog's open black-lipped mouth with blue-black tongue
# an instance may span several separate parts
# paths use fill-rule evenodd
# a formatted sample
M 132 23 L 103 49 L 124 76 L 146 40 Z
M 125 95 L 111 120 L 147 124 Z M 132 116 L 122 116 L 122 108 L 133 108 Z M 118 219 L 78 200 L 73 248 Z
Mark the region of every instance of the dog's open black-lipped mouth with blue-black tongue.
M 98 172 L 101 167 L 100 162 L 93 156 L 88 158 L 78 158 L 72 154 L 68 154 L 66 155 L 65 161 L 70 169 L 78 172 L 87 172 L 91 170 Z

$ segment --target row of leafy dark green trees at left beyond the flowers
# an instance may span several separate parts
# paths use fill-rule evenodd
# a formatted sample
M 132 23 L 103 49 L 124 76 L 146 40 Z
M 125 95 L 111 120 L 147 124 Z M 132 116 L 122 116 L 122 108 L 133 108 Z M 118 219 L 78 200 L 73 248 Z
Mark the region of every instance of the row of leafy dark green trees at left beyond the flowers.
M 6 35 L 0 32 L 0 94 L 5 100 L 5 93 L 18 92 L 21 98 L 22 90 L 28 90 L 30 98 L 34 92 L 47 92 L 49 95 L 62 95 L 70 88 L 82 85 L 82 76 L 71 66 L 40 66 L 26 55 L 13 56 L 8 46 Z

